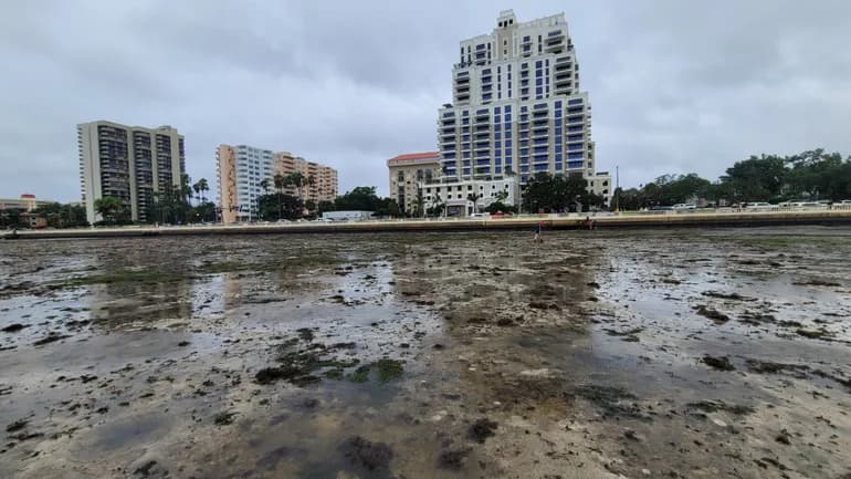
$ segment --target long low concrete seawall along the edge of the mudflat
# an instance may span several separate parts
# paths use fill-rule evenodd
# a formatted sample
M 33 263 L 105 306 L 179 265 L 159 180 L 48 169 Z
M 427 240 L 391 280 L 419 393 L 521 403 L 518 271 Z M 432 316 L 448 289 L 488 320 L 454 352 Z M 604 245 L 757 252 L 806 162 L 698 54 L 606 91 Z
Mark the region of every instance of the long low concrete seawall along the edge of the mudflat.
M 666 212 L 591 216 L 597 229 L 609 228 L 684 228 L 684 227 L 767 227 L 790 225 L 851 225 L 851 210 L 766 211 L 766 212 Z M 4 239 L 116 238 L 206 235 L 287 235 L 343 232 L 424 232 L 473 230 L 588 229 L 586 217 L 539 215 L 512 218 L 474 218 L 446 220 L 388 220 L 345 223 L 294 222 L 238 226 L 120 227 L 22 230 L 3 235 Z

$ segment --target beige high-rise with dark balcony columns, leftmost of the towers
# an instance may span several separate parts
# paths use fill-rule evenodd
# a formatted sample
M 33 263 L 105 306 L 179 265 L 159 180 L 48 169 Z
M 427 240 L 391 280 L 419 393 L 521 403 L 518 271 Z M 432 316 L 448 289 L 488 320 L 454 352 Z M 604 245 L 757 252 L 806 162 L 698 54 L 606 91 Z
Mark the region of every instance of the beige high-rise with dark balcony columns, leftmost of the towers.
M 77 150 L 88 222 L 101 219 L 94 204 L 107 196 L 123 200 L 134 221 L 147 221 L 154 194 L 179 187 L 186 171 L 183 136 L 168 125 L 83 123 L 77 125 Z

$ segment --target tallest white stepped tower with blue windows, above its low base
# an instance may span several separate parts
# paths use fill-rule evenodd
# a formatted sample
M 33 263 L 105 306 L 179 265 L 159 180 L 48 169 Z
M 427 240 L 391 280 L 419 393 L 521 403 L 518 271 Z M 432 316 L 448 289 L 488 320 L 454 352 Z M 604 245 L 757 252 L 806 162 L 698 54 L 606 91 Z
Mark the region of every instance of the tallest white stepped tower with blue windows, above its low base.
M 458 59 L 453 103 L 438 118 L 444 179 L 595 176 L 591 105 L 564 13 L 518 22 L 502 11 Z

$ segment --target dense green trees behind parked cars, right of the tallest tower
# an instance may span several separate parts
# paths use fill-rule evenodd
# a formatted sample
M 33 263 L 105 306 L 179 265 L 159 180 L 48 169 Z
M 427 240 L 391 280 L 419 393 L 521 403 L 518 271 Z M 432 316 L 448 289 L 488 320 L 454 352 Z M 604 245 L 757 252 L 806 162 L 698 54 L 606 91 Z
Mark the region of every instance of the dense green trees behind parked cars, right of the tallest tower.
M 708 205 L 851 198 L 851 156 L 812 149 L 797 155 L 752 155 L 716 181 L 697 174 L 664 175 L 640 188 L 617 189 L 612 206 L 652 208 L 700 199 Z

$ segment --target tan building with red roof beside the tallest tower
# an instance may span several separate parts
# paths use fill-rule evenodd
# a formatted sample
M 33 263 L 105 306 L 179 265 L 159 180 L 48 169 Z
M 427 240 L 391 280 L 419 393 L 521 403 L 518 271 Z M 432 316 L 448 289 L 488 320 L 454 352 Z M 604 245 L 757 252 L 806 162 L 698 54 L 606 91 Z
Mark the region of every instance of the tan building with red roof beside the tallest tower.
M 387 169 L 390 174 L 390 198 L 399 205 L 400 210 L 413 215 L 418 211 L 420 196 L 426 207 L 423 186 L 440 176 L 440 153 L 398 155 L 387 160 Z

